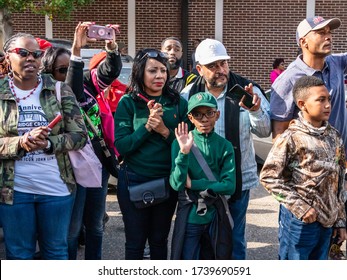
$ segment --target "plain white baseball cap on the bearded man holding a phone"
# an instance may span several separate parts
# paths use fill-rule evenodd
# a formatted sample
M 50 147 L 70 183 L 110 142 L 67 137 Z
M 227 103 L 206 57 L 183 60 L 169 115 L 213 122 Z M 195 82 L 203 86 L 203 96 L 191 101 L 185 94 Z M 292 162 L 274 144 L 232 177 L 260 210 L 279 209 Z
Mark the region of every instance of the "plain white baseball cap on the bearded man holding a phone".
M 195 60 L 201 65 L 218 60 L 230 59 L 224 45 L 214 39 L 203 40 L 195 50 Z

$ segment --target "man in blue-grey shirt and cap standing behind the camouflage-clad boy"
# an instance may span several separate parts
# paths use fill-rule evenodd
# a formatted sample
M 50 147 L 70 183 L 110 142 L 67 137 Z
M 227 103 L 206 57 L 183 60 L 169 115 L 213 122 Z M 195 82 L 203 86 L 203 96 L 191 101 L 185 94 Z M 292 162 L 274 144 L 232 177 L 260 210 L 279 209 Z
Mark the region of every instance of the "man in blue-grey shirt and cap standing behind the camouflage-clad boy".
M 331 54 L 332 30 L 339 28 L 338 18 L 325 20 L 320 16 L 304 19 L 296 31 L 296 41 L 302 50 L 295 61 L 273 83 L 270 108 L 272 137 L 276 139 L 298 117 L 299 108 L 293 100 L 294 83 L 302 76 L 322 79 L 331 96 L 329 123 L 341 134 L 347 152 L 347 113 L 344 76 L 347 74 L 347 53 Z M 334 253 L 344 258 L 341 251 Z M 336 258 L 336 257 L 334 257 Z

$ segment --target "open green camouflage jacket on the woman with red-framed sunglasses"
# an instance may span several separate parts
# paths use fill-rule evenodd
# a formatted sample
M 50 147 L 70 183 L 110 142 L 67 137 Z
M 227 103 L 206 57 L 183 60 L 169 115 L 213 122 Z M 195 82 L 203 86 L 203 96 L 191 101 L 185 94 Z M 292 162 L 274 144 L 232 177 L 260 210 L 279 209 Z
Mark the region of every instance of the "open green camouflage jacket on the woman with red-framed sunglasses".
M 78 150 L 86 144 L 87 132 L 71 88 L 62 83 L 61 103 L 55 96 L 55 80 L 50 75 L 42 75 L 43 87 L 40 93 L 42 110 L 48 122 L 60 112 L 63 121 L 51 131 L 49 140 L 52 142 L 53 153 L 56 155 L 60 176 L 72 192 L 76 187 L 71 163 L 67 152 Z M 0 80 L 0 202 L 13 203 L 14 166 L 15 160 L 25 154 L 19 149 L 18 135 L 19 110 L 15 98 L 9 88 L 8 79 Z

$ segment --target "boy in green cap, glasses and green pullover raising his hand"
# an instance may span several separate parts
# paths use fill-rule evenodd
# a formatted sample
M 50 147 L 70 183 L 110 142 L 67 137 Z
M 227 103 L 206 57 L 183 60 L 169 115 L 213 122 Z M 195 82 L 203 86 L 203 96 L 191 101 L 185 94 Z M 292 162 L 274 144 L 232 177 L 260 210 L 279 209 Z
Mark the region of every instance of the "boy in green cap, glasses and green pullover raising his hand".
M 172 144 L 172 169 L 170 184 L 179 192 L 171 259 L 230 259 L 231 225 L 228 219 L 218 224 L 230 228 L 229 234 L 214 233 L 219 209 L 217 203 L 209 204 L 202 193 L 214 193 L 216 197 L 232 195 L 235 191 L 234 149 L 229 141 L 214 132 L 219 118 L 217 101 L 209 93 L 200 92 L 188 101 L 188 118 L 195 126 L 188 132 L 188 125 L 180 123 L 175 129 L 176 140 Z M 209 180 L 191 151 L 195 144 L 210 167 L 215 181 Z M 201 210 L 201 205 L 207 205 Z M 226 207 L 228 208 L 228 207 Z M 225 213 L 225 209 L 223 209 Z M 229 235 L 229 236 L 227 236 Z M 225 242 L 222 250 L 213 244 Z

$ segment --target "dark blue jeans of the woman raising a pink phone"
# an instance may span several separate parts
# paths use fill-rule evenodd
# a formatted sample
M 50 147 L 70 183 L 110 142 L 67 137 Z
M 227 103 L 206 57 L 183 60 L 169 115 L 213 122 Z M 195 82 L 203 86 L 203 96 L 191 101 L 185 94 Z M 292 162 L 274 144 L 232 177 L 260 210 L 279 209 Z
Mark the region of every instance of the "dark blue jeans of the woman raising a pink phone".
M 69 259 L 77 258 L 78 236 L 82 225 L 86 229 L 84 258 L 101 260 L 104 235 L 103 218 L 106 209 L 106 196 L 110 174 L 102 169 L 102 188 L 77 187 L 69 230 Z

